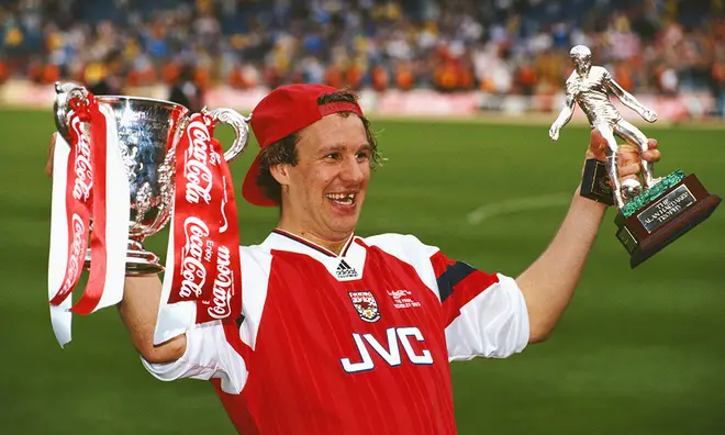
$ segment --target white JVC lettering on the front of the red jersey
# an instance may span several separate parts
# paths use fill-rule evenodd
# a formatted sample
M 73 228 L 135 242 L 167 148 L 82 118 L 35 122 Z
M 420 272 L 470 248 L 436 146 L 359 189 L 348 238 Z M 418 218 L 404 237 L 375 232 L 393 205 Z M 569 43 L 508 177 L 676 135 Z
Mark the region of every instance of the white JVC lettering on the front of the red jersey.
M 349 358 L 342 358 L 339 361 L 343 364 L 343 369 L 348 373 L 358 371 L 371 370 L 375 368 L 375 362 L 370 357 L 368 345 L 382 357 L 382 359 L 390 366 L 395 367 L 402 364 L 400 357 L 400 346 L 403 345 L 403 350 L 413 364 L 433 364 L 431 352 L 423 349 L 421 355 L 415 355 L 413 346 L 411 346 L 410 338 L 415 338 L 416 342 L 423 343 L 423 334 L 417 327 L 389 327 L 386 330 L 388 338 L 387 346 L 380 344 L 372 334 L 353 334 L 353 339 L 357 346 L 357 352 L 360 354 L 359 362 L 350 362 Z

